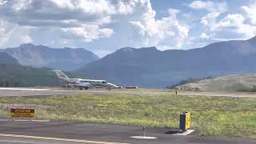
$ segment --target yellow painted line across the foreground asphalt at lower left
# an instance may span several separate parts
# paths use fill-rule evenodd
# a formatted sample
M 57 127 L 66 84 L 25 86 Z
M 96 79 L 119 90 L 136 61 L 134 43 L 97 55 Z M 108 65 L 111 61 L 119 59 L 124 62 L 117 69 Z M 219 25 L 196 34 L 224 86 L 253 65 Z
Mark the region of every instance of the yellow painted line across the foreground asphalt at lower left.
M 128 144 L 128 143 L 119 143 L 119 142 L 98 142 L 98 141 L 89 141 L 82 139 L 68 139 L 68 138 L 50 138 L 50 137 L 38 137 L 31 135 L 18 135 L 18 134 L 0 134 L 2 137 L 12 137 L 12 138 L 32 138 L 32 139 L 45 139 L 45 140 L 54 140 L 54 141 L 65 141 L 65 142 L 84 142 L 84 143 L 94 143 L 94 144 Z

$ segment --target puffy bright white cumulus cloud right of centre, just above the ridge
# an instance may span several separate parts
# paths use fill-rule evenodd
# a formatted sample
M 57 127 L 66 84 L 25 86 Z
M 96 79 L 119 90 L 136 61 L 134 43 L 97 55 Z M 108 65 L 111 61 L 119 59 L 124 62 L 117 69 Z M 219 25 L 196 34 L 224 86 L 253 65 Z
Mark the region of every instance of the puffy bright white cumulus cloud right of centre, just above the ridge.
M 142 46 L 182 46 L 188 37 L 189 26 L 182 26 L 177 19 L 178 10 L 168 10 L 169 16 L 155 19 L 155 11 L 148 9 L 142 19 L 130 22 L 138 31 L 137 37 L 142 41 Z

